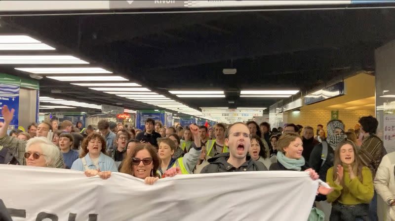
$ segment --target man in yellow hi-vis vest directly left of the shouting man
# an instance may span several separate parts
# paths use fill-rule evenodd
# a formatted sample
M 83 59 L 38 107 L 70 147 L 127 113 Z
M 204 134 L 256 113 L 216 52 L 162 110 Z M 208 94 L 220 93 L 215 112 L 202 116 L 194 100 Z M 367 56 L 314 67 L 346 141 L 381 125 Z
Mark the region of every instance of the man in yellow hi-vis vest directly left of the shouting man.
M 206 155 L 209 157 L 214 157 L 218 154 L 229 152 L 228 147 L 225 144 L 225 125 L 218 123 L 214 125 L 215 139 L 208 140 L 206 142 Z

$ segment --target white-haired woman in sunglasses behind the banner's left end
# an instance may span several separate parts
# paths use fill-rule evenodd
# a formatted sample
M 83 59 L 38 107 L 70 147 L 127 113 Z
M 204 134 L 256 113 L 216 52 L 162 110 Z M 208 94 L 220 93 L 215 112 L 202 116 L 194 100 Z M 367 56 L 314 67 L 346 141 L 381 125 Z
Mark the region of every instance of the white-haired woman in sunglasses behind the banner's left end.
M 59 149 L 45 137 L 34 137 L 26 144 L 26 165 L 40 167 L 56 167 Z

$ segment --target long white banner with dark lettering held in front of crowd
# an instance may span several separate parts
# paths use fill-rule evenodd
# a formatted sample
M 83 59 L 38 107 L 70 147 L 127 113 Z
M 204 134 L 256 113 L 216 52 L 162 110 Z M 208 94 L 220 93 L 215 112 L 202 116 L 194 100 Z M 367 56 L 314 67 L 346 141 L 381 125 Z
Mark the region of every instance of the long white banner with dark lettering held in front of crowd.
M 318 186 L 294 171 L 177 175 L 153 186 L 122 173 L 0 165 L 0 174 L 13 221 L 307 221 Z

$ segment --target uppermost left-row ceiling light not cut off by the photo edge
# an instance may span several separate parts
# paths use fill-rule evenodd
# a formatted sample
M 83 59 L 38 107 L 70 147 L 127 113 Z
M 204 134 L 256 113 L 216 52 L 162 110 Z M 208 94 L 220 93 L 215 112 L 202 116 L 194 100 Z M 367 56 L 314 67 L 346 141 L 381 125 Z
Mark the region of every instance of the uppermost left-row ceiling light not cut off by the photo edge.
M 34 74 L 111 74 L 101 67 L 15 67 Z

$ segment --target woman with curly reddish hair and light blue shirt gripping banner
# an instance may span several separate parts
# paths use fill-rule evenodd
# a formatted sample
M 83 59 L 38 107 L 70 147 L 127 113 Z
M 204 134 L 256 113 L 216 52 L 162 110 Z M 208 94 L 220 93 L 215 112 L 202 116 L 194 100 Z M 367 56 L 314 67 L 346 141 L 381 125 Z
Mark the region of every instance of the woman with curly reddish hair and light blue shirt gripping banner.
M 107 179 L 118 172 L 114 159 L 106 155 L 106 141 L 99 133 L 87 136 L 81 145 L 81 154 L 71 166 L 72 170 L 85 171 L 86 176 L 99 175 Z

